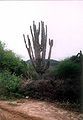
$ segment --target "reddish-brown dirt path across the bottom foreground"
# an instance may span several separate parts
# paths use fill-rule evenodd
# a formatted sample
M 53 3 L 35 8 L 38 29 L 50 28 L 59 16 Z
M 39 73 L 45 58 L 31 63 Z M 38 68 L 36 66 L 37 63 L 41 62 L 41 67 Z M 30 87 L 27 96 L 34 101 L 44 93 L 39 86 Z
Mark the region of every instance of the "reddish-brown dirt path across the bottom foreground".
M 0 101 L 0 120 L 81 120 L 78 113 L 36 100 Z

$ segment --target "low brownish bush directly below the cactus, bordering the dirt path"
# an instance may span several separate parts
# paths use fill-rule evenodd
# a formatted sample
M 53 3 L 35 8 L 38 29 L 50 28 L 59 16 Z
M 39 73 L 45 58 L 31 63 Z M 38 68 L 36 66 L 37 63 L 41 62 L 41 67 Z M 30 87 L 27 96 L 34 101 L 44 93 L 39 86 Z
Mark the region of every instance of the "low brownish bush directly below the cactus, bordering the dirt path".
M 63 100 L 62 81 L 36 80 L 21 86 L 21 93 L 36 99 Z

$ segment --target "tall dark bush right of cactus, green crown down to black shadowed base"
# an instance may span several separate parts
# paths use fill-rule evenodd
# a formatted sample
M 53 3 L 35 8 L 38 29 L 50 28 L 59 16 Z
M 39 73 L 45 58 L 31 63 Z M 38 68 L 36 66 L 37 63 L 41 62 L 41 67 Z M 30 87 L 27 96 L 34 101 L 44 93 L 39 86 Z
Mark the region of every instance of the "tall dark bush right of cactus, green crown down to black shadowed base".
M 80 75 L 81 66 L 76 57 L 70 57 L 59 63 L 56 69 L 57 78 L 64 81 L 61 85 L 64 90 L 64 100 L 80 102 Z

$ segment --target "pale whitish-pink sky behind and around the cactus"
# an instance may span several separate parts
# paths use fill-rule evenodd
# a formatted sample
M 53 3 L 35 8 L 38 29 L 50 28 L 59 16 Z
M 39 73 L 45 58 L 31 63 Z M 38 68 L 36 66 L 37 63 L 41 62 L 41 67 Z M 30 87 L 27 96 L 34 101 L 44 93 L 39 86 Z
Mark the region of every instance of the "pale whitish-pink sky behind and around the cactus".
M 51 59 L 83 51 L 82 1 L 0 1 L 0 40 L 24 60 L 29 56 L 23 34 L 31 37 L 33 20 L 37 25 L 42 20 L 48 27 L 48 39 L 54 41 Z

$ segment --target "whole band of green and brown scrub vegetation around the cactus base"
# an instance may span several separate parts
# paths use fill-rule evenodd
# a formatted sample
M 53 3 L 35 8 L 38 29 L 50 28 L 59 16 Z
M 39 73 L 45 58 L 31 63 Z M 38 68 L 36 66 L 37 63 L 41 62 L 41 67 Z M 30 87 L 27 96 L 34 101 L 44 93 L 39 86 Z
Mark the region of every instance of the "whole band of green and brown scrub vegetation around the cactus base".
M 30 98 L 65 102 L 80 108 L 80 56 L 50 60 L 39 79 L 31 61 L 23 61 L 0 42 L 0 99 Z

